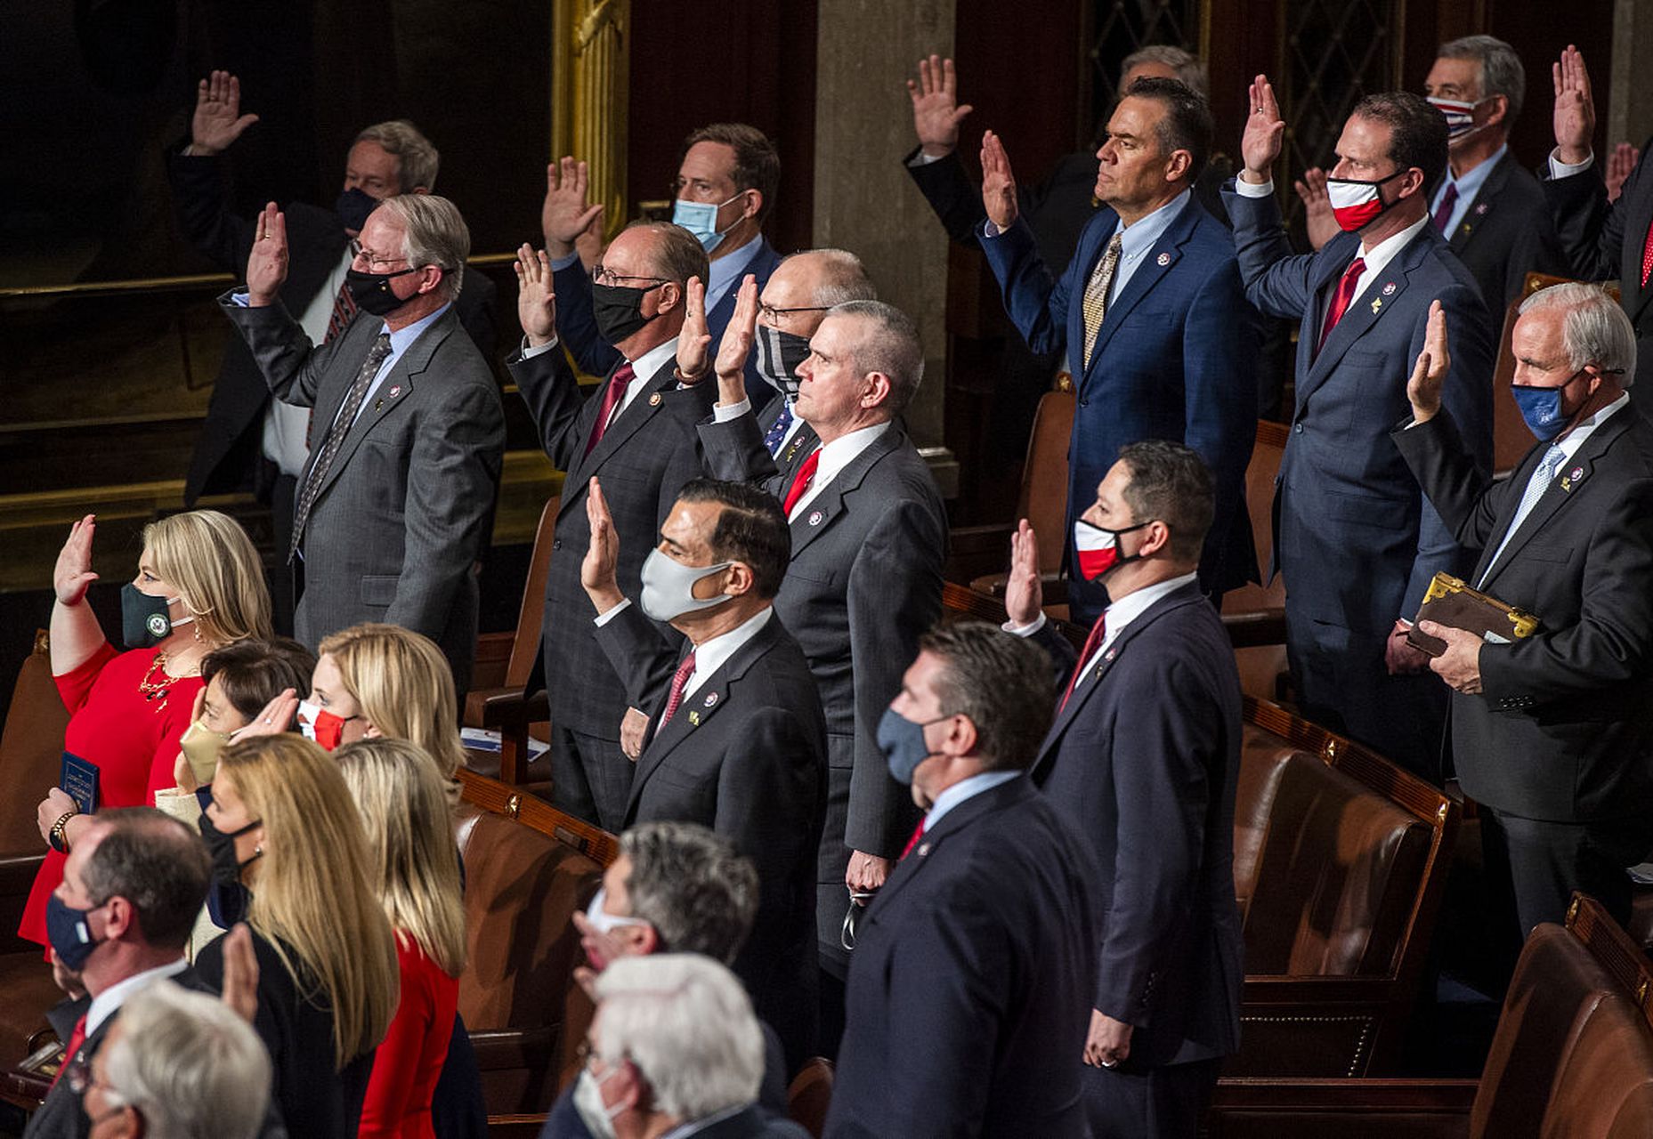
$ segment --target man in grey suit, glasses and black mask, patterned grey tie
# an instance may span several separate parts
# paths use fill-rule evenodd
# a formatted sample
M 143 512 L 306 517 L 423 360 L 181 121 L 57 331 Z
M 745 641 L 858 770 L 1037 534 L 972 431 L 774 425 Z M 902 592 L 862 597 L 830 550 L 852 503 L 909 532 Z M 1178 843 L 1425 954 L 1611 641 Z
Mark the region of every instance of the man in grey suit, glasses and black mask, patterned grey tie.
M 271 393 L 314 412 L 283 550 L 304 559 L 294 631 L 316 648 L 359 622 L 402 625 L 441 646 L 463 694 L 506 441 L 499 388 L 453 311 L 471 235 L 446 198 L 407 193 L 385 198 L 352 248 L 345 283 L 365 316 L 322 346 L 278 298 L 288 240 L 273 202 L 246 291 L 218 301 Z

